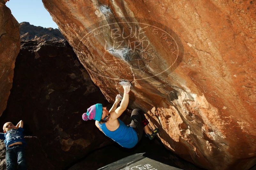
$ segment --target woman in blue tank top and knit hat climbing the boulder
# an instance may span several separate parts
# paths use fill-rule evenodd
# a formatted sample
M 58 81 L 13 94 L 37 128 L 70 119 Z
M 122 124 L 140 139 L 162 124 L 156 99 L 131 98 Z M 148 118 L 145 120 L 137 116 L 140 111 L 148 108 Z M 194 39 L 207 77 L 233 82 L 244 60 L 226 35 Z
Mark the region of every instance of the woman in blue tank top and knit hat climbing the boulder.
M 124 88 L 124 96 L 120 102 L 121 96 L 117 95 L 115 103 L 108 111 L 102 104 L 94 104 L 87 109 L 87 113 L 82 115 L 83 120 L 96 120 L 95 125 L 106 136 L 112 138 L 115 142 L 125 148 L 134 147 L 142 138 L 143 131 L 146 136 L 153 139 L 158 133 L 158 128 L 152 132 L 148 126 L 149 122 L 144 116 L 142 110 L 134 109 L 131 114 L 131 123 L 125 125 L 118 117 L 126 110 L 129 103 L 129 91 L 131 83 L 128 81 L 121 81 L 120 84 Z

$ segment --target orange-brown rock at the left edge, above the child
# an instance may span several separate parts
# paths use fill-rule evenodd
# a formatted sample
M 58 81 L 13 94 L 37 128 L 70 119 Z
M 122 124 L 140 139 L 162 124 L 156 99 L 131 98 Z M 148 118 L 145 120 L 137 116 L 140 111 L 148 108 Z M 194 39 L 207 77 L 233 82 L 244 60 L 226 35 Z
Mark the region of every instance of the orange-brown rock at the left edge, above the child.
M 13 68 L 19 53 L 19 23 L 4 1 L 0 1 L 0 116 L 12 88 Z

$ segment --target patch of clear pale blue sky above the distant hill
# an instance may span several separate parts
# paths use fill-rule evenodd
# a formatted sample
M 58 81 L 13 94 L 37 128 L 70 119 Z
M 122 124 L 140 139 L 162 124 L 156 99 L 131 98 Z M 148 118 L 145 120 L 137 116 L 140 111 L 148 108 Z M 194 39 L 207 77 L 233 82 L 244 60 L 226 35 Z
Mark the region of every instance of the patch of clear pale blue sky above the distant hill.
M 26 21 L 35 26 L 58 28 L 44 8 L 42 0 L 10 0 L 6 6 L 19 23 Z

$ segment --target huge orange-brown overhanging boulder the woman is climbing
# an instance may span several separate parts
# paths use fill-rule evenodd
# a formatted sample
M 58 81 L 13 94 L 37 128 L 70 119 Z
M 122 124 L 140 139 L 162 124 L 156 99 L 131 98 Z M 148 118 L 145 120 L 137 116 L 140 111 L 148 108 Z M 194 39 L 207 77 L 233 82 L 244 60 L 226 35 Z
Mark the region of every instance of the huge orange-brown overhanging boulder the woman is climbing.
M 129 107 L 167 148 L 207 169 L 255 164 L 256 1 L 43 3 L 109 102 L 132 81 Z

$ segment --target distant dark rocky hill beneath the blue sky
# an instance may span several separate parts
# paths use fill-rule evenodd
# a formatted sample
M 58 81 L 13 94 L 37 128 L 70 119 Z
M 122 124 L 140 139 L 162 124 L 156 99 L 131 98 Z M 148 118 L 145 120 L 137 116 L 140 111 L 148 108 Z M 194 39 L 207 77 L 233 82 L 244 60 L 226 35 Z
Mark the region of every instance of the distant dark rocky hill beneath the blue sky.
M 21 41 L 58 41 L 64 39 L 63 35 L 58 29 L 43 28 L 42 26 L 30 25 L 29 22 L 21 22 L 20 25 L 20 39 Z

